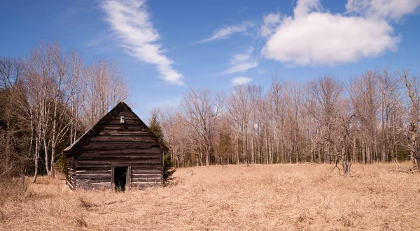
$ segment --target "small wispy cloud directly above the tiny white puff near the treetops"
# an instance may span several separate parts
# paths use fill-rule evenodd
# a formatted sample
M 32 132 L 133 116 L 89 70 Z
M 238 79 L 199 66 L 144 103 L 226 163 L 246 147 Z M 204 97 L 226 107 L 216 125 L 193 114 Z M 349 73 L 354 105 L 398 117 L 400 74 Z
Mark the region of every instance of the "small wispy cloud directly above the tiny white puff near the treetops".
M 230 59 L 230 64 L 232 66 L 223 71 L 223 74 L 243 73 L 248 69 L 258 66 L 258 61 L 250 60 L 252 52 L 253 47 L 249 47 L 244 53 L 232 55 L 232 58 Z

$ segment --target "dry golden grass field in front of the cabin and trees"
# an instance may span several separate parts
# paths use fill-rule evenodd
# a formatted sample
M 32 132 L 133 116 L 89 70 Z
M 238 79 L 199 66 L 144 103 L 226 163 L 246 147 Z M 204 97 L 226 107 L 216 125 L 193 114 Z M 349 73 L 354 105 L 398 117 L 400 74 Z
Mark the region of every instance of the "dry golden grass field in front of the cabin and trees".
M 2 183 L 0 230 L 420 230 L 420 174 L 332 167 L 182 168 L 173 186 L 127 193 L 72 192 L 46 177 L 27 191 Z

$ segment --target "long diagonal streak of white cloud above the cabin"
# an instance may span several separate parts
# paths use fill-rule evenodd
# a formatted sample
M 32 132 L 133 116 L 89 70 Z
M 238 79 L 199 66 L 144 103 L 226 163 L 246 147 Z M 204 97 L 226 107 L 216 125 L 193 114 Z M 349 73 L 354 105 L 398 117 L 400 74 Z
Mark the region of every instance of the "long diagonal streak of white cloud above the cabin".
M 183 85 L 183 75 L 174 70 L 174 61 L 158 44 L 160 35 L 149 19 L 144 1 L 104 1 L 102 8 L 120 46 L 140 61 L 155 64 L 163 80 Z

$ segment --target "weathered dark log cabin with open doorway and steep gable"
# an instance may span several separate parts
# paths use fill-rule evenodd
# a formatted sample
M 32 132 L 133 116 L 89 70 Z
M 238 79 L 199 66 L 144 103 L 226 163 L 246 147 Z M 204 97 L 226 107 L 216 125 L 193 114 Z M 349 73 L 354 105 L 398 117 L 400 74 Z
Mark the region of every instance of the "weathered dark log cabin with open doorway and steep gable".
M 162 186 L 167 147 L 131 108 L 118 103 L 71 146 L 66 184 L 72 189 Z

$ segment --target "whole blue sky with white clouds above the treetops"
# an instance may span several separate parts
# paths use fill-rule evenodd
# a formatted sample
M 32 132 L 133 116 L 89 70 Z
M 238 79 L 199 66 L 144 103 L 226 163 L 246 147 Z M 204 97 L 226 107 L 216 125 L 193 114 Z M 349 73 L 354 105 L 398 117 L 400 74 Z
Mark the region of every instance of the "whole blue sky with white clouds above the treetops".
M 332 74 L 409 67 L 420 73 L 420 0 L 0 1 L 0 55 L 39 39 L 86 62 L 118 59 L 140 117 L 175 106 L 190 87 L 269 88 Z

